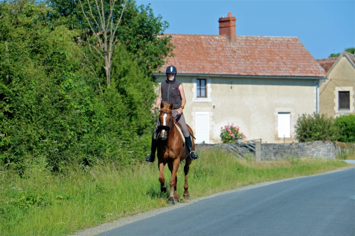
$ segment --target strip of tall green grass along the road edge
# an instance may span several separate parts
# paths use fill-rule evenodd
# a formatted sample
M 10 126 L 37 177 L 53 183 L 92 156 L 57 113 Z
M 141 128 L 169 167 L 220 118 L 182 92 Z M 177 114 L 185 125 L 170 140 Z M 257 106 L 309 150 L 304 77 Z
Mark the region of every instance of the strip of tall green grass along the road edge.
M 191 199 L 259 182 L 317 174 L 348 164 L 290 158 L 272 163 L 238 160 L 222 150 L 200 150 L 189 173 Z M 0 172 L 0 235 L 66 235 L 103 222 L 166 206 L 157 163 L 119 167 L 97 163 L 53 174 L 33 160 L 21 176 Z M 166 167 L 165 179 L 170 179 Z M 183 169 L 178 171 L 183 193 Z

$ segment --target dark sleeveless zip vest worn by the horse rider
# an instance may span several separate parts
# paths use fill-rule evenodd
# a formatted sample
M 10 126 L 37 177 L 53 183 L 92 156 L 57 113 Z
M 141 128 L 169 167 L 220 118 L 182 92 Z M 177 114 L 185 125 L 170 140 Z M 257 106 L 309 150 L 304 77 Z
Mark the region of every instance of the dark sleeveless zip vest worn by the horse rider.
M 176 80 L 173 80 L 170 83 L 168 80 L 161 82 L 161 101 L 165 101 L 168 104 L 173 103 L 173 109 L 181 107 L 180 92 L 177 90 L 180 84 L 181 83 Z

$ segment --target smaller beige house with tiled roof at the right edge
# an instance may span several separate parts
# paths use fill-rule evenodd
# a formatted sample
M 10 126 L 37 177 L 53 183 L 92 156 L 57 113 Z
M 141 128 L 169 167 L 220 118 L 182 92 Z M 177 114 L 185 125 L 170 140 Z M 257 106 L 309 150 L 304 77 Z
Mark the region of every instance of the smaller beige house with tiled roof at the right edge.
M 328 117 L 354 113 L 355 55 L 343 51 L 339 57 L 317 61 L 328 77 L 320 83 L 320 113 Z

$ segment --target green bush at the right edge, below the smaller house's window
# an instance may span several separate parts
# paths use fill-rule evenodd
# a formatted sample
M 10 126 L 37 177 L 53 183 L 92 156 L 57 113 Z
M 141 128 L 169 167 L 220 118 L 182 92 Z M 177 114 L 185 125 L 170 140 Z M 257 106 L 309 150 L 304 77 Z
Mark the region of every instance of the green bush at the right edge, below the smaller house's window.
M 349 114 L 337 117 L 335 125 L 339 127 L 338 140 L 341 142 L 355 143 L 355 115 Z

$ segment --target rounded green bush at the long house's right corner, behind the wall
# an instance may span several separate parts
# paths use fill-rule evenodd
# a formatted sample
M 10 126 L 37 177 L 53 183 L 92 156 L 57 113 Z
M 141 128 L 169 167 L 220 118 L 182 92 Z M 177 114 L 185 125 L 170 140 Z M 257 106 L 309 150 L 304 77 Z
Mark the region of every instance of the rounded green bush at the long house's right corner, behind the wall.
M 339 131 L 339 127 L 335 125 L 334 119 L 328 118 L 324 114 L 302 114 L 297 119 L 295 125 L 296 139 L 300 142 L 317 140 L 337 141 Z

